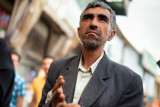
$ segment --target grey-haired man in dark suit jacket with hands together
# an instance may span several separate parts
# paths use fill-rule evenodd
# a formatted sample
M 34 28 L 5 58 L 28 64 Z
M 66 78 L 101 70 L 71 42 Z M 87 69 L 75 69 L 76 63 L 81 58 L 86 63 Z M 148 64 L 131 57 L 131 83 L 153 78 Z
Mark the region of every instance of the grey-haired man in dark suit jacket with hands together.
M 142 107 L 141 77 L 103 51 L 115 27 L 115 12 L 107 4 L 86 7 L 78 28 L 82 53 L 51 64 L 39 107 Z

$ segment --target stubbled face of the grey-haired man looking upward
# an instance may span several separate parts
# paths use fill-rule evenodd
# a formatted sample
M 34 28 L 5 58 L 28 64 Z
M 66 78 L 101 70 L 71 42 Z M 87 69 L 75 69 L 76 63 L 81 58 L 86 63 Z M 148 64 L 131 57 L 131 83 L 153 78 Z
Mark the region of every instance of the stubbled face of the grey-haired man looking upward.
M 107 9 L 96 7 L 86 10 L 80 21 L 78 35 L 87 49 L 95 50 L 110 41 L 115 30 L 111 29 L 111 14 Z

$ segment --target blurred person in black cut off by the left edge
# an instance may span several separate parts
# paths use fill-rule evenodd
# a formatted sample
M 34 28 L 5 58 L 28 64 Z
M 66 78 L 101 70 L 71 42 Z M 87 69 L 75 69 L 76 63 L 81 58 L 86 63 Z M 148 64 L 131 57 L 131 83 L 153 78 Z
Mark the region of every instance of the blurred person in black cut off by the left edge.
M 0 107 L 9 107 L 14 85 L 14 68 L 7 42 L 0 38 Z

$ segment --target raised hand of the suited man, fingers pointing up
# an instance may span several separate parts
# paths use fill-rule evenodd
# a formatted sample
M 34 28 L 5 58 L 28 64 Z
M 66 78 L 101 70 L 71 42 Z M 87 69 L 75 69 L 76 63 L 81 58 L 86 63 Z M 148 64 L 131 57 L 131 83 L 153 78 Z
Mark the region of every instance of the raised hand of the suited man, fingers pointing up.
M 63 76 L 59 76 L 56 80 L 56 84 L 52 89 L 52 107 L 66 107 L 67 103 L 62 89 L 64 82 Z

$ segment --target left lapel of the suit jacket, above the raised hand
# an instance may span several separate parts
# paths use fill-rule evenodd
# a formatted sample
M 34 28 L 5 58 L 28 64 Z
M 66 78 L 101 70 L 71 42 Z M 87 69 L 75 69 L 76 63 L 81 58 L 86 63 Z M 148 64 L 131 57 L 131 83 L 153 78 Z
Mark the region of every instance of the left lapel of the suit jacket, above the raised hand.
M 65 100 L 67 103 L 71 103 L 73 100 L 77 72 L 78 72 L 78 65 L 79 65 L 80 55 L 68 64 L 67 70 L 62 72 L 65 84 L 63 86 L 63 92 L 65 94 Z

